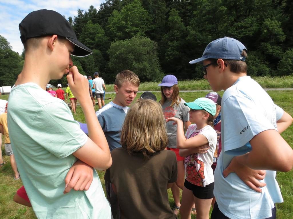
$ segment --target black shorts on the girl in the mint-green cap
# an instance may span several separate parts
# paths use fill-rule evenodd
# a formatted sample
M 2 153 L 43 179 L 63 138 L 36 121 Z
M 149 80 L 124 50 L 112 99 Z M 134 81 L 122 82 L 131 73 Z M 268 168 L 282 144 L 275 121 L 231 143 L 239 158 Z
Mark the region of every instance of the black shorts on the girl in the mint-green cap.
M 193 195 L 198 199 L 212 199 L 214 197 L 214 182 L 210 183 L 209 185 L 198 186 L 193 185 L 192 183 L 185 180 L 184 187 L 188 190 L 191 190 Z

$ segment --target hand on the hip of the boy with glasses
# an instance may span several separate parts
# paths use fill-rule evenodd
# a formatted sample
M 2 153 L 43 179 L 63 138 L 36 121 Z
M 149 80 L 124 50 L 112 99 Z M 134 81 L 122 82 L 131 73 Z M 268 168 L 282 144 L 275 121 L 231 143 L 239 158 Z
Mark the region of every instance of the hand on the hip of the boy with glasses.
M 265 178 L 265 170 L 254 170 L 247 166 L 240 164 L 234 157 L 231 163 L 224 170 L 223 175 L 227 177 L 230 173 L 236 173 L 238 177 L 251 189 L 256 192 L 262 192 L 261 187 L 266 184 L 261 183 L 258 180 L 263 180 Z

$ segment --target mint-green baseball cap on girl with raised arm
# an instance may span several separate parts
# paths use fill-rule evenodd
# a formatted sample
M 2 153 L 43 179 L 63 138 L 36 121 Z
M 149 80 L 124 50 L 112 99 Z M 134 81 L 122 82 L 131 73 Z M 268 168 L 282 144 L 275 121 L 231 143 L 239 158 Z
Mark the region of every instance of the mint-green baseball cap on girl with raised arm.
M 184 103 L 185 106 L 188 106 L 190 109 L 204 109 L 212 116 L 216 115 L 216 104 L 209 98 L 200 97 L 193 102 Z

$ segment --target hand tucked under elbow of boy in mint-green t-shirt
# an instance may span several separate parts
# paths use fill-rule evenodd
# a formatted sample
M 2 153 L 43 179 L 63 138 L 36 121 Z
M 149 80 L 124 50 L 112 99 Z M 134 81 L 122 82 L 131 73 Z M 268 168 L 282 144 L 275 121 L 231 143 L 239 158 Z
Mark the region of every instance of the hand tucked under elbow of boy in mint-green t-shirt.
M 65 177 L 65 190 L 63 194 L 71 189 L 88 190 L 93 181 L 93 168 L 81 160 L 77 160 L 69 169 Z

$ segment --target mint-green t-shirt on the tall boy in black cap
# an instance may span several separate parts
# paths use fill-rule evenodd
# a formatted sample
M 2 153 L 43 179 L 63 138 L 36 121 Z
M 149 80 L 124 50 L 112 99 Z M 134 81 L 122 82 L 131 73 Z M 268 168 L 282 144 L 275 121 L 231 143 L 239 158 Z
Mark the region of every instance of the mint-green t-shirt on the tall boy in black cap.
M 64 179 L 77 160 L 72 155 L 86 141 L 63 100 L 52 97 L 37 84 L 11 90 L 8 130 L 21 179 L 38 218 L 111 218 L 100 179 L 88 191 L 63 194 Z

